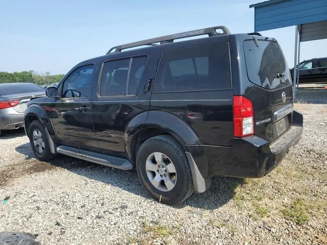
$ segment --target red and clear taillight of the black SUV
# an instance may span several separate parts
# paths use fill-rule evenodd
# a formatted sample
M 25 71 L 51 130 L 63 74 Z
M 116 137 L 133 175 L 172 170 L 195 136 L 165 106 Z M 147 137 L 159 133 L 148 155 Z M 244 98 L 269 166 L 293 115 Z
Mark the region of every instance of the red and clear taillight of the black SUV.
M 252 102 L 244 96 L 233 96 L 234 136 L 244 137 L 254 134 Z

